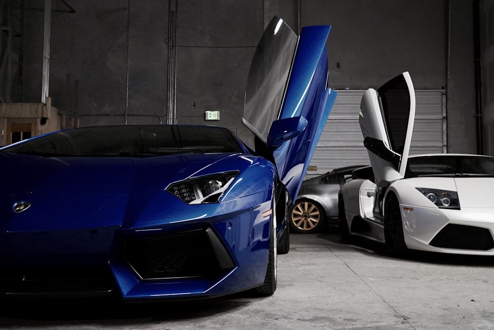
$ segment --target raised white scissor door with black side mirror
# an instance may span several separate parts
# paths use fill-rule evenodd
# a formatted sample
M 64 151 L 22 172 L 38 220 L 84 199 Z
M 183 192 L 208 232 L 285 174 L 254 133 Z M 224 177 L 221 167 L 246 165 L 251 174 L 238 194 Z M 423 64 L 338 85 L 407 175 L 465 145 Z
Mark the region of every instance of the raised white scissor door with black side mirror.
M 385 188 L 405 176 L 414 119 L 415 91 L 408 72 L 377 90 L 369 88 L 362 97 L 359 124 L 376 184 L 374 215 Z

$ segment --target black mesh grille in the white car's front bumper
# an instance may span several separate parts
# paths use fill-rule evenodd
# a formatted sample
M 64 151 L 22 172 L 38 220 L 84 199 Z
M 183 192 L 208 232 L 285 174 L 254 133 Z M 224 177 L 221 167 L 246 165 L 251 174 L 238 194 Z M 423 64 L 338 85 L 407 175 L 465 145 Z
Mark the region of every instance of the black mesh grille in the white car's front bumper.
M 489 250 L 494 248 L 494 241 L 487 228 L 449 224 L 429 245 L 437 248 Z

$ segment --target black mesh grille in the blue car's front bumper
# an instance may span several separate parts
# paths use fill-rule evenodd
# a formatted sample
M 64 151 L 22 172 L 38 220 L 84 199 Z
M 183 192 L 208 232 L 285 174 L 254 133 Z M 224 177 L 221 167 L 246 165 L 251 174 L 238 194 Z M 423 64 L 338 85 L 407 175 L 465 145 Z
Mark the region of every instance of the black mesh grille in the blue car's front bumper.
M 124 257 L 143 279 L 212 276 L 218 261 L 204 230 L 125 244 Z

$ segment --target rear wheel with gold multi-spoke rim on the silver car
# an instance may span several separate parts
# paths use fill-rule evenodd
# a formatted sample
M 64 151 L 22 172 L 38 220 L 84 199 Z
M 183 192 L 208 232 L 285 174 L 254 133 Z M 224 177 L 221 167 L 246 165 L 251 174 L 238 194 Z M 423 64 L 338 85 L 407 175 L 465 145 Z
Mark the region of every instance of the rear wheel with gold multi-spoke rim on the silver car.
M 317 233 L 324 225 L 326 214 L 317 203 L 302 199 L 290 207 L 289 223 L 294 233 Z

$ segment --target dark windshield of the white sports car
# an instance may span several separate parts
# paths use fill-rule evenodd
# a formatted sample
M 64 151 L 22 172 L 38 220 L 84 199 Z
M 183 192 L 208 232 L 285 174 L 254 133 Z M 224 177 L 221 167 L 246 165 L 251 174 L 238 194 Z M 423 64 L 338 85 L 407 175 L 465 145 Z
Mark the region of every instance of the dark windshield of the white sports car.
M 411 157 L 405 177 L 494 176 L 494 158 L 471 155 Z

